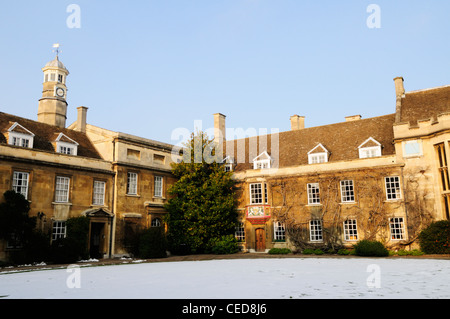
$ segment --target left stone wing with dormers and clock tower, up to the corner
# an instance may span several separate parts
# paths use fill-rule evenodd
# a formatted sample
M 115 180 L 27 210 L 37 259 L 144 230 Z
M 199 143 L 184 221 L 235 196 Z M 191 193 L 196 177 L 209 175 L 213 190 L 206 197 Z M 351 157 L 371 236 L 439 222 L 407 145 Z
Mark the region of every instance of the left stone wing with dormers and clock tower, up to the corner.
M 67 219 L 89 217 L 91 256 L 109 256 L 114 171 L 86 133 L 66 128 L 69 71 L 58 56 L 42 70 L 38 120 L 0 113 L 0 193 L 12 189 L 23 194 L 30 215 L 52 241 L 65 237 Z M 0 241 L 0 259 L 17 245 Z

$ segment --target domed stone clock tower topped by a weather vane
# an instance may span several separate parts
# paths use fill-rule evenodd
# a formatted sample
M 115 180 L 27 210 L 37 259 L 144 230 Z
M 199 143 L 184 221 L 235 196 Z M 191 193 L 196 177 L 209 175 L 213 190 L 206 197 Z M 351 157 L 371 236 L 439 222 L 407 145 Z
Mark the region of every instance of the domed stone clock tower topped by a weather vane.
M 69 70 L 59 61 L 58 53 L 59 50 L 56 50 L 56 57 L 42 68 L 44 83 L 42 98 L 39 100 L 38 121 L 65 128 L 67 118 L 66 78 Z

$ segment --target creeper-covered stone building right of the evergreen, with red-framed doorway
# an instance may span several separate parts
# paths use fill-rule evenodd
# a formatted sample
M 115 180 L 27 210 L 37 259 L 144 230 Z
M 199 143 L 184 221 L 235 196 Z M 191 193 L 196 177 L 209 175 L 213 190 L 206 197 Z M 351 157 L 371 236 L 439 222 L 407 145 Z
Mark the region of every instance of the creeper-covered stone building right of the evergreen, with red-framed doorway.
M 378 239 L 411 247 L 431 220 L 449 219 L 450 86 L 405 92 L 395 113 L 223 141 L 238 182 L 244 250 L 337 248 Z M 216 141 L 225 116 L 214 114 Z M 256 131 L 256 130 L 254 130 Z

